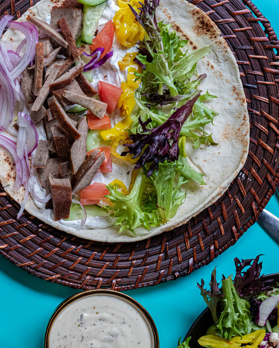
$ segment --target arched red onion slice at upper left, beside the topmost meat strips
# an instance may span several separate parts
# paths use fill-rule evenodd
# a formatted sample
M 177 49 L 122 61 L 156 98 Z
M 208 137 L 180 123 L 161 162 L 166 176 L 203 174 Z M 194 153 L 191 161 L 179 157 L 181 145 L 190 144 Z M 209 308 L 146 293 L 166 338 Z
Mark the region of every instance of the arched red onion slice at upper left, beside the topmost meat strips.
M 31 62 L 32 58 L 35 55 L 36 44 L 38 42 L 38 31 L 35 25 L 33 25 L 32 23 L 27 23 L 27 22 L 21 23 L 21 22 L 9 21 L 7 23 L 7 26 L 9 28 L 20 30 L 26 37 L 25 53 L 21 61 L 11 71 L 12 79 L 14 80 L 29 65 L 29 63 Z M 18 53 L 18 51 L 16 53 Z

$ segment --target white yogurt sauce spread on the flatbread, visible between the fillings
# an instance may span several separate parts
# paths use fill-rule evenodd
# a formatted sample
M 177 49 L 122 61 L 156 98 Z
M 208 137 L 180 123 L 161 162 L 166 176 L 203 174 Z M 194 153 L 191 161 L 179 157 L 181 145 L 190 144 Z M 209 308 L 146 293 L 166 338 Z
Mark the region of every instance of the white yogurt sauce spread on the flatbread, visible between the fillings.
M 119 10 L 119 7 L 114 3 L 114 1 L 108 0 L 105 10 L 99 19 L 99 23 L 97 27 L 98 31 L 100 31 L 108 21 L 113 19 L 117 10 Z M 50 20 L 51 20 L 50 13 L 46 14 L 44 16 L 44 21 L 50 24 Z M 127 52 L 135 52 L 136 47 L 131 47 L 128 49 L 123 47 L 118 42 L 116 33 L 115 33 L 112 50 L 113 50 L 113 56 L 105 64 L 100 66 L 98 69 L 95 69 L 92 71 L 93 73 L 92 85 L 97 90 L 98 90 L 98 81 L 106 81 L 118 87 L 120 87 L 122 81 L 127 81 L 127 72 L 119 69 L 118 61 L 122 60 L 122 58 L 126 55 Z M 115 109 L 115 111 L 111 115 L 112 127 L 114 127 L 115 124 L 119 122 L 120 120 L 122 120 L 122 117 L 120 117 L 119 109 Z M 38 122 L 38 124 L 36 124 L 36 128 L 38 130 L 39 140 L 46 140 L 43 122 Z M 34 159 L 35 155 L 36 155 L 36 150 L 33 151 L 31 158 Z M 112 156 L 112 161 L 113 161 L 112 173 L 101 173 L 101 172 L 97 173 L 94 176 L 91 184 L 93 182 L 109 184 L 113 180 L 119 179 L 128 188 L 131 182 L 131 172 L 134 166 L 131 163 L 123 161 L 123 160 L 119 160 L 114 156 Z M 35 168 L 32 168 L 32 176 L 34 180 L 36 194 L 39 197 L 44 198 L 46 195 L 46 192 L 45 192 L 45 189 L 42 189 L 40 185 Z M 32 190 L 30 190 L 30 195 L 33 198 L 35 205 L 42 211 L 46 219 L 50 222 L 53 221 L 54 220 L 53 210 L 46 209 L 45 204 L 39 203 L 34 198 Z M 87 216 L 87 219 L 84 225 L 81 225 L 81 220 L 57 221 L 57 223 L 61 224 L 62 226 L 66 226 L 68 228 L 78 228 L 78 229 L 88 229 L 88 228 L 102 229 L 102 228 L 112 226 L 114 222 L 115 222 L 115 219 L 111 219 L 109 216 L 97 216 L 97 217 Z

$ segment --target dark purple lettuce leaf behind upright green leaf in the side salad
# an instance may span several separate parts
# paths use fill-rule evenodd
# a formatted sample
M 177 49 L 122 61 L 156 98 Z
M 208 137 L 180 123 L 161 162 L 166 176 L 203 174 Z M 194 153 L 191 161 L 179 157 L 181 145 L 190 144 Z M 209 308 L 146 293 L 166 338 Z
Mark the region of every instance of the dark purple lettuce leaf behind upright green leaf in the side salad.
M 262 271 L 262 262 L 258 262 L 260 256 L 241 261 L 238 258 L 234 259 L 236 275 L 233 283 L 239 295 L 246 300 L 266 291 L 270 288 L 269 283 L 273 281 L 273 279 L 264 280 L 263 276 L 260 276 Z M 245 267 L 249 268 L 244 271 Z

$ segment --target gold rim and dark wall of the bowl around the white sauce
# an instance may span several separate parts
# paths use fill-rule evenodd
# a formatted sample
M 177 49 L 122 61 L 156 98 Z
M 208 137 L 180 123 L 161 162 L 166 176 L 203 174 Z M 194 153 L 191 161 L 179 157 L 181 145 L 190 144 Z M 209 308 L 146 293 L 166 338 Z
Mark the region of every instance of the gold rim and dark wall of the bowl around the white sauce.
M 84 298 L 86 296 L 91 296 L 91 295 L 112 295 L 116 296 L 118 299 L 122 299 L 126 302 L 129 302 L 133 306 L 135 306 L 143 315 L 143 317 L 146 319 L 147 323 L 150 325 L 150 331 L 153 335 L 153 347 L 154 348 L 159 348 L 159 335 L 158 331 L 156 328 L 156 325 L 151 317 L 151 315 L 148 313 L 148 311 L 135 299 L 132 297 L 118 292 L 118 291 L 113 291 L 113 290 L 88 290 L 84 291 L 78 294 L 75 294 L 73 296 L 68 297 L 66 300 L 62 301 L 54 310 L 53 314 L 51 315 L 50 319 L 48 320 L 48 323 L 46 325 L 45 329 L 45 335 L 44 335 L 44 348 L 50 348 L 49 345 L 49 339 L 50 339 L 50 333 L 52 330 L 52 326 L 55 322 L 55 319 L 58 317 L 58 315 L 69 306 L 69 304 L 73 303 L 74 301 Z M 152 338 L 151 338 L 152 339 Z

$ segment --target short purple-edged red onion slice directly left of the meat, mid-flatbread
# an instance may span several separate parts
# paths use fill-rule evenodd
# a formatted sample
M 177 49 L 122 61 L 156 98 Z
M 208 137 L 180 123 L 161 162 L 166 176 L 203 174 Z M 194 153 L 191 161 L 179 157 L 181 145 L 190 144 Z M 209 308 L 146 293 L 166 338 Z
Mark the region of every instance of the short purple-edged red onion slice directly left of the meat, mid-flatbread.
M 17 124 L 20 128 L 26 128 L 27 135 L 26 135 L 26 144 L 27 144 L 27 151 L 28 156 L 31 155 L 31 153 L 36 149 L 39 142 L 39 134 L 37 132 L 36 126 L 34 122 L 31 120 L 30 116 L 26 114 L 25 112 L 19 112 L 18 118 L 17 118 Z M 20 133 L 20 129 L 18 130 L 18 134 Z M 19 135 L 17 135 L 17 146 L 18 141 L 21 141 L 21 138 Z

